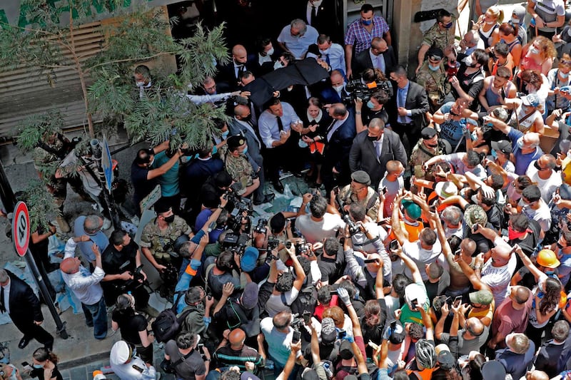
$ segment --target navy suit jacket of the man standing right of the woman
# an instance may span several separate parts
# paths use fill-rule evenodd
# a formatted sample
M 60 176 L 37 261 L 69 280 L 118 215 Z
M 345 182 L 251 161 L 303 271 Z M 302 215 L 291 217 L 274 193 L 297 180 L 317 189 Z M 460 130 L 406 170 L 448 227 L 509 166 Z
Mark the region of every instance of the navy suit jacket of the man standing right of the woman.
M 327 145 L 325 145 L 325 151 L 323 152 L 327 168 L 335 167 L 335 169 L 340 173 L 349 169 L 349 152 L 356 133 L 355 115 L 353 115 L 353 112 L 351 111 L 348 112 L 349 117 L 340 125 L 339 128 L 335 130 L 333 135 L 331 135 L 330 140 L 328 140 Z M 327 135 L 327 130 L 325 130 L 325 134 L 323 135 L 325 140 L 327 140 Z

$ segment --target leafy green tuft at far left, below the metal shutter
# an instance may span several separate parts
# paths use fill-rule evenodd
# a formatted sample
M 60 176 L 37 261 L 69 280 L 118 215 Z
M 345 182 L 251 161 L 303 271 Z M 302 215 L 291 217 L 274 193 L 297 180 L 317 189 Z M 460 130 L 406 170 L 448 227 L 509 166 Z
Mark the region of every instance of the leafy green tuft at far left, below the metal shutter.
M 24 152 L 36 148 L 42 136 L 61 133 L 64 127 L 64 115 L 51 110 L 43 115 L 31 115 L 19 125 L 19 135 L 16 138 L 19 148 Z

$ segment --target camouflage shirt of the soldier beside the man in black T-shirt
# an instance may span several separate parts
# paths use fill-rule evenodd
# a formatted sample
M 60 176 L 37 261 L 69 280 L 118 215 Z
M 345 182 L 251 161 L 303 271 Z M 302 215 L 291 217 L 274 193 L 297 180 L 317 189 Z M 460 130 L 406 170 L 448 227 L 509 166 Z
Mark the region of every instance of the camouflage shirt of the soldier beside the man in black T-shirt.
M 155 220 L 143 228 L 141 247 L 148 248 L 159 264 L 170 263 L 171 255 L 168 252 L 173 251 L 174 242 L 179 236 L 189 233 L 191 233 L 191 227 L 188 227 L 183 218 L 176 215 L 173 222 L 163 231 L 158 228 Z

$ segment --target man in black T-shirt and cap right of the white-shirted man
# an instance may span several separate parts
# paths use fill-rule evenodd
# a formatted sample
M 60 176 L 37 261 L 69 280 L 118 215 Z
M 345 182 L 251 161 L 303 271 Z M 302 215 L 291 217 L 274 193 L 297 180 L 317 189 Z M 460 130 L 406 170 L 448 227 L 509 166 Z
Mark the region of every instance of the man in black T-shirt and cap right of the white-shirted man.
M 111 233 L 110 245 L 103 251 L 103 271 L 106 273 L 101 281 L 105 302 L 111 306 L 120 294 L 131 292 L 135 297 L 135 305 L 139 310 L 156 317 L 158 312 L 148 304 L 148 292 L 143 286 L 147 275 L 141 269 L 141 251 L 137 243 L 125 230 Z

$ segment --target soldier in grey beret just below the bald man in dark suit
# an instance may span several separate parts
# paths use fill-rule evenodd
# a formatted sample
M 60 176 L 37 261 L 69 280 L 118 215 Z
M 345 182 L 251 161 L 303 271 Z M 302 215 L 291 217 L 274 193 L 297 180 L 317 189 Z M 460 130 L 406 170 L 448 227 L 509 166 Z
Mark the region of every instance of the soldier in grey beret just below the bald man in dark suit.
M 349 210 L 349 205 L 358 203 L 365 207 L 367 215 L 373 220 L 377 220 L 377 212 L 379 210 L 379 195 L 370 186 L 370 175 L 365 170 L 357 170 L 351 173 L 351 183 L 346 185 L 339 191 L 339 198 L 345 206 L 345 210 Z M 337 212 L 335 205 L 335 193 L 331 191 L 330 212 Z

